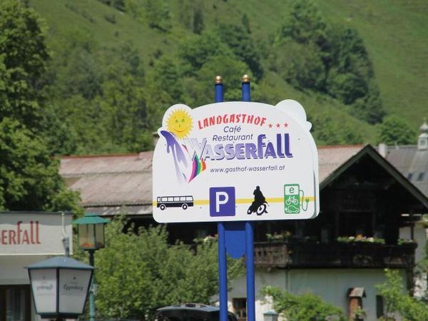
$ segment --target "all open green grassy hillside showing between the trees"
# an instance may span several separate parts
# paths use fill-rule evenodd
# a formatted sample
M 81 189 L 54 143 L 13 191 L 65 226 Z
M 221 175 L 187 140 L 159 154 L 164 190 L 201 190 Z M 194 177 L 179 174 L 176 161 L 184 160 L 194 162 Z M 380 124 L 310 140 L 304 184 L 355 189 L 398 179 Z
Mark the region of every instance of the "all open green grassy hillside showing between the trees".
M 134 1 L 138 2 L 138 1 Z M 178 46 L 192 35 L 191 26 L 186 26 L 191 6 L 198 6 L 203 14 L 204 31 L 215 29 L 219 24 L 241 24 L 243 16 L 248 18 L 251 36 L 262 55 L 265 75 L 258 79 L 253 88 L 253 97 L 267 103 L 277 103 L 285 98 L 300 101 L 307 109 L 310 121 L 314 123 L 318 143 L 375 143 L 375 126 L 358 120 L 342 102 L 312 90 L 298 90 L 283 80 L 277 73 L 269 71 L 267 56 L 270 45 L 282 21 L 290 12 L 292 1 L 280 0 L 170 0 L 164 1 L 170 14 L 172 28 L 168 32 L 150 28 L 144 18 L 133 17 L 107 6 L 97 0 L 30 0 L 30 6 L 40 14 L 49 28 L 48 44 L 52 55 L 68 41 L 71 33 L 81 31 L 91 36 L 98 48 L 114 48 L 118 44 L 131 42 L 138 50 L 145 66 L 145 73 L 151 73 L 158 56 L 169 56 L 175 61 Z M 186 6 L 185 6 L 186 5 Z M 428 89 L 427 78 L 428 13 L 426 1 L 317 1 L 317 6 L 330 24 L 342 24 L 357 29 L 362 36 L 373 63 L 374 75 L 380 90 L 384 110 L 397 114 L 409 121 L 412 127 L 420 126 L 421 119 L 428 116 L 425 106 Z M 189 23 L 191 25 L 191 21 Z M 180 67 L 181 68 L 181 67 Z M 215 71 L 203 79 L 208 95 L 205 101 L 196 98 L 191 102 L 209 103 L 213 94 L 210 87 Z M 236 74 L 235 79 L 225 76 L 228 83 L 239 81 L 246 70 Z M 192 84 L 193 82 L 184 82 Z M 147 85 L 147 83 L 146 83 Z M 184 88 L 191 96 L 192 88 Z M 260 94 L 259 94 L 260 93 Z M 168 101 L 168 99 L 166 100 Z M 178 101 L 177 101 L 178 102 Z M 189 103 L 190 102 L 190 103 Z M 168 106 L 165 106 L 168 107 Z M 336 140 L 335 131 L 342 125 L 353 128 L 357 138 Z M 318 132 L 317 132 L 318 130 Z M 322 132 L 322 133 L 321 133 Z M 345 139 L 345 141 L 344 141 Z M 416 139 L 416 138 L 415 138 Z M 114 150 L 114 149 L 113 149 Z

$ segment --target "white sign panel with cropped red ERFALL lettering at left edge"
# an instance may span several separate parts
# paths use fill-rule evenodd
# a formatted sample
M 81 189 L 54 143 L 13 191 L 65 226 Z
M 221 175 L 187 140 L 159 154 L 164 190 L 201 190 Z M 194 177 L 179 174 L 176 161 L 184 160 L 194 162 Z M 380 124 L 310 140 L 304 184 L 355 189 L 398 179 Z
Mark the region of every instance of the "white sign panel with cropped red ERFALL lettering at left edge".
M 64 229 L 73 248 L 71 213 L 64 216 Z M 0 255 L 61 255 L 61 213 L 0 213 Z

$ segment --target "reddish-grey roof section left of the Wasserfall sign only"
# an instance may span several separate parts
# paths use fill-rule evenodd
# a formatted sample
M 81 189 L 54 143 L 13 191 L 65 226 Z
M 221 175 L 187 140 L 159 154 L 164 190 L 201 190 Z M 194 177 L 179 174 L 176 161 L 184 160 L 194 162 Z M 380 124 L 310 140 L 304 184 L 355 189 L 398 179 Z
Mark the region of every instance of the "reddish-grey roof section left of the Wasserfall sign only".
M 97 213 L 100 207 L 106 207 L 117 214 L 122 205 L 131 205 L 139 213 L 146 213 L 144 205 L 151 206 L 152 198 L 152 156 L 151 151 L 129 155 L 66 156 L 61 158 L 60 174 L 68 187 L 80 191 L 83 205 L 92 212 Z

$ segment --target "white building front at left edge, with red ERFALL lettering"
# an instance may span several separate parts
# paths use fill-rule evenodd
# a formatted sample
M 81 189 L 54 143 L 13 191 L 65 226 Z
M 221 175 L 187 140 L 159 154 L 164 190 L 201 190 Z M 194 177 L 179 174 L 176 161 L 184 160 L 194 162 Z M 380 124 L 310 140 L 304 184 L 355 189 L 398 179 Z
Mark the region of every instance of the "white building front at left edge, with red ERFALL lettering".
M 0 213 L 0 321 L 40 321 L 26 266 L 72 248 L 71 213 Z

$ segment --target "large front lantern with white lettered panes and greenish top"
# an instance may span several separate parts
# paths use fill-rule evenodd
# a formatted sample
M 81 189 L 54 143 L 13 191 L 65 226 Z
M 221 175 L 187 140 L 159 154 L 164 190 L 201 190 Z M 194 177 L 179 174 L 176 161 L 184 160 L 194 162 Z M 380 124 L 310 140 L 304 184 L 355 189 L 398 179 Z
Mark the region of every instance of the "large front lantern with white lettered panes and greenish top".
M 26 267 L 36 313 L 41 318 L 76 319 L 83 314 L 93 267 L 55 257 Z

